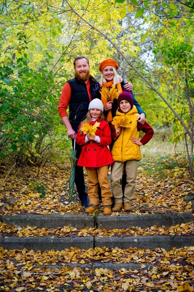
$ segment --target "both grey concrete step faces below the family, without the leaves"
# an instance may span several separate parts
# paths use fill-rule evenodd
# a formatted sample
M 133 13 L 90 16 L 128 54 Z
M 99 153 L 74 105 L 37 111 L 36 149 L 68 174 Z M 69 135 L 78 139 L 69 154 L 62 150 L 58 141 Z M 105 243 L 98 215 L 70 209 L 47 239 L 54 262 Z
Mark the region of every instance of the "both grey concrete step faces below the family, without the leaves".
M 36 226 L 38 228 L 56 228 L 63 226 L 73 226 L 75 228 L 98 228 L 98 229 L 127 229 L 132 226 L 140 228 L 150 228 L 153 225 L 170 227 L 172 225 L 188 223 L 193 221 L 191 212 L 184 213 L 165 213 L 152 215 L 130 215 L 120 213 L 119 216 L 97 216 L 73 215 L 3 215 L 0 221 L 15 226 Z M 14 249 L 33 249 L 40 250 L 64 250 L 77 247 L 83 250 L 95 247 L 121 248 L 129 247 L 137 249 L 156 249 L 163 248 L 166 251 L 171 247 L 182 248 L 194 245 L 194 235 L 145 235 L 145 236 L 64 236 L 64 237 L 0 237 L 0 247 L 8 250 Z

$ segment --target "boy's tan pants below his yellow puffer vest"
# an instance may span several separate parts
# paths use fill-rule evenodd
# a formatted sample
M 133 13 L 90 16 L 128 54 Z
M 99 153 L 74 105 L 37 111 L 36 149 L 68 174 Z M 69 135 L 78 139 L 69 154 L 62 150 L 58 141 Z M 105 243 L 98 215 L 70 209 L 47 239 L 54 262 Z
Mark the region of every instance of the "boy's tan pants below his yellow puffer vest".
M 127 173 L 127 184 L 125 186 L 124 198 L 122 193 L 121 179 L 124 169 Z M 113 164 L 112 174 L 111 174 L 111 183 L 113 197 L 115 203 L 124 203 L 132 201 L 135 193 L 135 180 L 137 177 L 137 161 L 129 160 L 127 162 L 118 162 L 115 161 Z

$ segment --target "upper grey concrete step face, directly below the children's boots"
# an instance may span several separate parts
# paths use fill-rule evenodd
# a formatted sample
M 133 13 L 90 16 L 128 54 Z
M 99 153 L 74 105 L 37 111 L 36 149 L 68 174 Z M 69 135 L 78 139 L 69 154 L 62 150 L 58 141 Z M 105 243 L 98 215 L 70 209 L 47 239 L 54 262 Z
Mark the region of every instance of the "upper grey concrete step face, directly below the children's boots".
M 120 213 L 119 216 L 104 216 L 85 214 L 24 214 L 24 215 L 2 215 L 0 221 L 16 226 L 36 226 L 39 228 L 56 228 L 63 226 L 73 226 L 76 228 L 107 228 L 107 229 L 126 229 L 131 226 L 141 228 L 151 227 L 153 225 L 170 227 L 172 225 L 188 223 L 193 221 L 191 212 L 184 213 L 165 213 L 165 214 L 148 214 L 133 215 Z

